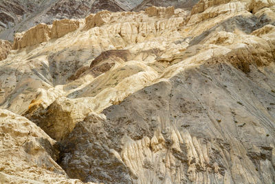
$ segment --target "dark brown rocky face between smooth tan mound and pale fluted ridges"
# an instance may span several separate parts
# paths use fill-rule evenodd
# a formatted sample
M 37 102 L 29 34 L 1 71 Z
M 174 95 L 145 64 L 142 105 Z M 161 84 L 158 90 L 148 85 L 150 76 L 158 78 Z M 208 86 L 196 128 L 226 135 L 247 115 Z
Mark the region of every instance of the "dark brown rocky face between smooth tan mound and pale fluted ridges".
M 92 115 L 78 123 L 61 142 L 58 164 L 69 177 L 83 182 L 132 183 L 128 168 L 111 151 L 113 135 L 104 130 L 104 124 L 102 119 Z

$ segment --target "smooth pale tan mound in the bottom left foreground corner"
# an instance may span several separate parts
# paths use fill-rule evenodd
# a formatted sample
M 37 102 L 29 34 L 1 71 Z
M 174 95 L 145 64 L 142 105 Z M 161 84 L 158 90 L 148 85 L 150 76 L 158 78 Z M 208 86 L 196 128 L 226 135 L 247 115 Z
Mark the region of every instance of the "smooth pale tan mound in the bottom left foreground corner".
M 56 141 L 22 116 L 0 110 L 0 183 L 82 183 L 56 163 Z

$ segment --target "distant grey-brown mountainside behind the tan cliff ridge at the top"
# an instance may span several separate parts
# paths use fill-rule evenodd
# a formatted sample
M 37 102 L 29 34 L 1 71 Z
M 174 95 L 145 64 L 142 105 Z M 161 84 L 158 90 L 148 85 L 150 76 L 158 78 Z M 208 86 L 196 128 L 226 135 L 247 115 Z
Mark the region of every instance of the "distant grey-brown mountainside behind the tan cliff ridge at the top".
M 0 1 L 0 39 L 12 41 L 15 32 L 22 32 L 38 23 L 51 24 L 56 19 L 80 19 L 102 10 L 111 12 L 144 10 L 148 6 L 175 6 L 177 1 L 142 0 L 12 0 Z M 197 1 L 190 0 L 188 7 Z M 139 6 L 140 5 L 140 6 Z M 137 8 L 138 6 L 138 8 Z

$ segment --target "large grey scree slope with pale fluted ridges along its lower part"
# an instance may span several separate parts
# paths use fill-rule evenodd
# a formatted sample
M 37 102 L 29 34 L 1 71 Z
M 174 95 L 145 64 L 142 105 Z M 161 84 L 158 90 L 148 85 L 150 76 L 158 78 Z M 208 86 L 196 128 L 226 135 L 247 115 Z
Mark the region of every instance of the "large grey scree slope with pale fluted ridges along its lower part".
M 118 183 L 270 183 L 274 100 L 230 65 L 181 71 L 107 108 L 106 119 L 90 114 L 78 123 L 61 166 L 73 178 L 105 183 L 118 173 Z

